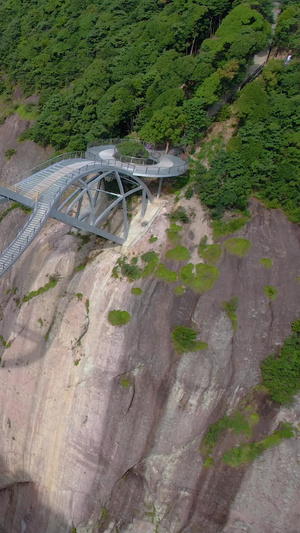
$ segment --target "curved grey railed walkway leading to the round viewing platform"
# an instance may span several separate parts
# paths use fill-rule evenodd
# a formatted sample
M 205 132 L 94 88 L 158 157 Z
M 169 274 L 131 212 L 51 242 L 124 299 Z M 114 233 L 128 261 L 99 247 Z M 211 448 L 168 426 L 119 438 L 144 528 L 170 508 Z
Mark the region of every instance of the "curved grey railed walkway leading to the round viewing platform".
M 164 178 L 179 176 L 187 170 L 187 164 L 173 156 L 162 156 L 159 164 L 149 166 L 123 163 L 111 157 L 113 149 L 114 146 L 95 147 L 88 150 L 85 156 L 82 153 L 72 153 L 71 156 L 65 154 L 56 158 L 54 164 L 50 160 L 48 166 L 46 163 L 40 167 L 36 167 L 27 173 L 26 177 L 24 176 L 23 179 L 21 177 L 21 180 L 13 188 L 0 185 L 1 202 L 13 200 L 33 209 L 29 220 L 0 256 L 0 277 L 3 276 L 26 248 L 28 248 L 47 219 L 51 217 L 51 212 L 59 197 L 79 178 L 102 171 L 121 171 L 135 178 L 144 187 L 144 198 L 148 189 L 139 179 L 140 177 Z M 152 198 L 150 193 L 148 197 L 150 199 Z M 71 217 L 69 218 L 71 219 Z M 72 224 L 72 221 L 68 220 L 68 223 Z M 74 220 L 74 226 L 79 227 L 79 222 Z M 91 227 L 88 224 L 80 222 L 80 227 L 96 235 L 114 240 L 119 244 L 124 242 L 124 239 L 100 230 L 96 226 Z

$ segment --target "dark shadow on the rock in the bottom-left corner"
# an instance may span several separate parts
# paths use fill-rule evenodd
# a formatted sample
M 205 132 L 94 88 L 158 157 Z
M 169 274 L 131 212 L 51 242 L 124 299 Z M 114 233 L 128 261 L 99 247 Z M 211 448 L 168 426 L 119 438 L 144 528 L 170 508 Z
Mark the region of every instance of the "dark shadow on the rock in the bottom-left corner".
M 43 503 L 46 496 L 27 472 L 7 472 L 0 457 L 0 533 L 70 533 L 67 519 Z

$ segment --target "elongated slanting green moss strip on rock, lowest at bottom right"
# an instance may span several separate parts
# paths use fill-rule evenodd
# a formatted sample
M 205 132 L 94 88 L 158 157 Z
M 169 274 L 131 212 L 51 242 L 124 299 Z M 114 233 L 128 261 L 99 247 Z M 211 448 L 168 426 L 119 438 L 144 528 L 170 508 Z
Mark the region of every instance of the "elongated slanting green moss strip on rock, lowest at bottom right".
M 232 450 L 228 450 L 224 453 L 222 460 L 225 464 L 233 467 L 250 463 L 268 448 L 278 446 L 283 439 L 290 439 L 294 435 L 295 430 L 292 424 L 282 423 L 279 429 L 265 439 L 259 442 L 236 446 Z

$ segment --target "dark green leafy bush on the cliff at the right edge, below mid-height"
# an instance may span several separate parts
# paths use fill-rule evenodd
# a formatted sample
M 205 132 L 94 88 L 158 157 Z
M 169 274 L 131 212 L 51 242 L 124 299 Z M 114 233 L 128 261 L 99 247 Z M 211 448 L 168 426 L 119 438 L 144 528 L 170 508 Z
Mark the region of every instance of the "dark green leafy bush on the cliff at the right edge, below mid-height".
M 289 404 L 300 390 L 300 321 L 292 325 L 293 334 L 282 346 L 279 355 L 271 354 L 261 364 L 263 385 L 270 397 L 280 404 Z

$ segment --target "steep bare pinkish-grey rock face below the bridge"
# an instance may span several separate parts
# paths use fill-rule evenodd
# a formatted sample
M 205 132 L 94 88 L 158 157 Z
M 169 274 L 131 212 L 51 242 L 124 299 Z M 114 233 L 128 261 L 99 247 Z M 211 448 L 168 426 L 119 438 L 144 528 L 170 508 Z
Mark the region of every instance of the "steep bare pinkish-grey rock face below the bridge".
M 196 210 L 182 239 L 193 255 L 209 233 Z M 92 241 L 78 249 L 80 241 L 53 222 L 1 280 L 1 334 L 12 344 L 3 347 L 0 368 L 0 531 L 299 529 L 296 439 L 238 469 L 221 462 L 207 469 L 200 452 L 209 424 L 260 381 L 260 362 L 299 314 L 299 228 L 257 203 L 253 214 L 240 232 L 252 242 L 249 254 L 225 252 L 218 281 L 202 295 L 189 289 L 175 296 L 173 284 L 155 277 L 139 282 L 141 296 L 132 295 L 126 279 L 111 275 L 120 248 L 102 249 L 99 241 L 93 248 Z M 159 237 L 151 248 L 162 258 L 168 226 L 162 213 L 151 228 Z M 129 252 L 148 250 L 149 236 Z M 76 271 L 87 254 L 86 268 Z M 260 265 L 262 257 L 273 259 L 271 270 Z M 56 287 L 22 303 L 53 275 Z M 278 289 L 274 302 L 266 284 Z M 237 331 L 222 311 L 234 295 Z M 131 322 L 110 325 L 112 309 L 130 312 Z M 175 354 L 175 325 L 195 327 L 208 348 Z M 297 422 L 299 404 L 271 410 L 262 433 L 279 419 Z

